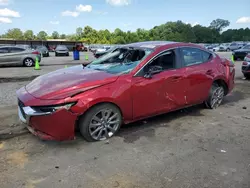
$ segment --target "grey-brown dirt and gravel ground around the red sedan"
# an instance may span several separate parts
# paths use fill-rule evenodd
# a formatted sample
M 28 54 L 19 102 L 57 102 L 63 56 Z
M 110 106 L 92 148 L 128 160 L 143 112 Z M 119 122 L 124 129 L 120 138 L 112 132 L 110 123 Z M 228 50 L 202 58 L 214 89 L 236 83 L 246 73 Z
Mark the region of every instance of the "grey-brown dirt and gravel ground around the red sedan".
M 57 65 L 51 65 L 59 62 L 55 57 L 44 58 L 40 74 L 73 64 L 71 58 Z M 250 83 L 242 79 L 240 65 L 234 91 L 216 110 L 196 106 L 133 123 L 108 142 L 87 143 L 80 136 L 42 142 L 25 129 L 12 139 L 0 137 L 1 187 L 249 188 Z M 39 73 L 0 69 L 4 74 Z M 20 131 L 15 90 L 28 79 L 9 81 L 0 83 L 0 127 Z

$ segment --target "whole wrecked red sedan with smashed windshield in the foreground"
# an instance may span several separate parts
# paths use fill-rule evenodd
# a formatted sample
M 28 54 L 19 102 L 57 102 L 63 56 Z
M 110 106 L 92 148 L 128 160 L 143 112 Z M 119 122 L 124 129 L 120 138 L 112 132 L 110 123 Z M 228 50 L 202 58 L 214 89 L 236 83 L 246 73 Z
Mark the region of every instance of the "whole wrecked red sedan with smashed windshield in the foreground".
M 17 91 L 20 119 L 43 140 L 105 140 L 122 124 L 205 103 L 234 87 L 234 64 L 195 44 L 122 46 L 87 66 L 40 76 Z

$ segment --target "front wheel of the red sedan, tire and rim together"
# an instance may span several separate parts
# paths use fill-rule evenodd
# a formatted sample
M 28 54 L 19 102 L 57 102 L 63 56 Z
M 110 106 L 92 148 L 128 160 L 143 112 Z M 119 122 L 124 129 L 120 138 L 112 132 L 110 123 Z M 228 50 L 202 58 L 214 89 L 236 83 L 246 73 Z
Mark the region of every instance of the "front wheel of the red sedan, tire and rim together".
M 92 107 L 79 119 L 80 133 L 88 142 L 102 141 L 112 137 L 119 131 L 121 124 L 120 110 L 109 103 Z

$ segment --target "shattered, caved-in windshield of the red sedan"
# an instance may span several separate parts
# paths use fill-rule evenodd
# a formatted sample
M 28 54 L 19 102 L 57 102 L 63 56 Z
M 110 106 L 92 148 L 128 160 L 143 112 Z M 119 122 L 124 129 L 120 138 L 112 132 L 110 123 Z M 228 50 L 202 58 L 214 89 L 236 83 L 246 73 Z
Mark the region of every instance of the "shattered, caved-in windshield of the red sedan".
M 118 48 L 92 61 L 87 68 L 110 74 L 128 74 L 152 51 L 152 49 Z

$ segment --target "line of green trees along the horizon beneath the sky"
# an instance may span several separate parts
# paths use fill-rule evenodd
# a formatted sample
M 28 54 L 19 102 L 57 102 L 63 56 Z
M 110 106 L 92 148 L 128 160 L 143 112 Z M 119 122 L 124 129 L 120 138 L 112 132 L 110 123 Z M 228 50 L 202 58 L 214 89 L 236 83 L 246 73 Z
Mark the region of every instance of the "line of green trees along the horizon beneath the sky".
M 167 22 L 155 26 L 150 30 L 137 29 L 136 31 L 122 31 L 117 28 L 114 32 L 109 30 L 95 30 L 90 26 L 77 28 L 71 35 L 59 34 L 54 31 L 48 35 L 40 31 L 37 35 L 32 30 L 22 32 L 18 28 L 9 29 L 0 38 L 12 38 L 16 40 L 47 40 L 67 39 L 71 41 L 82 41 L 89 44 L 126 44 L 149 40 L 167 40 L 192 43 L 223 43 L 232 41 L 250 41 L 250 29 L 228 29 L 222 30 L 230 25 L 228 20 L 216 19 L 208 27 L 202 25 L 192 26 L 182 21 Z

